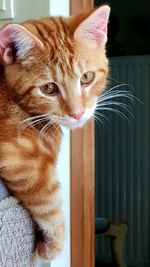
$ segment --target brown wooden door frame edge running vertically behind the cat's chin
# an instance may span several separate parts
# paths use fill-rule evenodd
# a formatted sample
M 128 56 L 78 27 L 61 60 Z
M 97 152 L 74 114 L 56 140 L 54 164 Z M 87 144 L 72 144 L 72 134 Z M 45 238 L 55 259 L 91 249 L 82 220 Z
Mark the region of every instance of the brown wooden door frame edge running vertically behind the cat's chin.
M 70 0 L 71 14 L 93 8 L 93 0 Z M 95 266 L 94 121 L 71 132 L 71 267 Z

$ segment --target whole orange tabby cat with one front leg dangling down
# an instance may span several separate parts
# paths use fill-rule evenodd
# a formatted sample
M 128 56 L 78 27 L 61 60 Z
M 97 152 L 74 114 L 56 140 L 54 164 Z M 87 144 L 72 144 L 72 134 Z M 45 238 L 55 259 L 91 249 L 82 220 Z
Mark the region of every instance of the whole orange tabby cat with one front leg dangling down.
M 61 126 L 81 127 L 105 87 L 109 11 L 0 30 L 0 175 L 42 230 L 36 252 L 45 259 L 64 240 L 55 178 Z

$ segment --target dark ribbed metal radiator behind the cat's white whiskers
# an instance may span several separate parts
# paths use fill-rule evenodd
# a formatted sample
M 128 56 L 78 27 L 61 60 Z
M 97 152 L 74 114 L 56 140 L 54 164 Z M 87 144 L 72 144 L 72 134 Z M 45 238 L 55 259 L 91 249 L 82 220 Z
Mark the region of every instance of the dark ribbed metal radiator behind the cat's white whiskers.
M 129 226 L 125 258 L 129 265 L 150 266 L 150 56 L 118 57 L 110 60 L 111 86 L 127 83 L 132 104 L 123 100 L 132 112 L 104 115 L 109 125 L 95 126 L 96 134 L 96 216 L 124 219 Z M 117 81 L 116 81 L 117 80 Z M 119 88 L 118 88 L 119 89 Z M 119 98 L 117 99 L 119 101 Z M 121 111 L 121 109 L 120 109 Z M 108 122 L 106 122 L 108 124 Z M 96 255 L 109 260 L 106 238 L 96 243 Z

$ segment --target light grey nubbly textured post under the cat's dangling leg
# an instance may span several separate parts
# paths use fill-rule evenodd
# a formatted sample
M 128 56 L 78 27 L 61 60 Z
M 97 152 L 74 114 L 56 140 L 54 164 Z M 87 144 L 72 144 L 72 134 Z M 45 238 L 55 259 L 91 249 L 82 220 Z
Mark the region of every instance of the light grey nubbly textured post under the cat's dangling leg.
M 0 266 L 35 267 L 33 220 L 0 180 Z

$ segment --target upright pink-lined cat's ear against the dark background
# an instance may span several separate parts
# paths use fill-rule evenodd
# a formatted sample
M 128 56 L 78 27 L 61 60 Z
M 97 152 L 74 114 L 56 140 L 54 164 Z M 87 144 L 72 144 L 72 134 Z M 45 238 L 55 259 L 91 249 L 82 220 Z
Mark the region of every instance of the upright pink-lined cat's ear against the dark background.
M 87 17 L 75 30 L 74 37 L 86 43 L 105 45 L 110 14 L 109 6 L 101 6 Z

